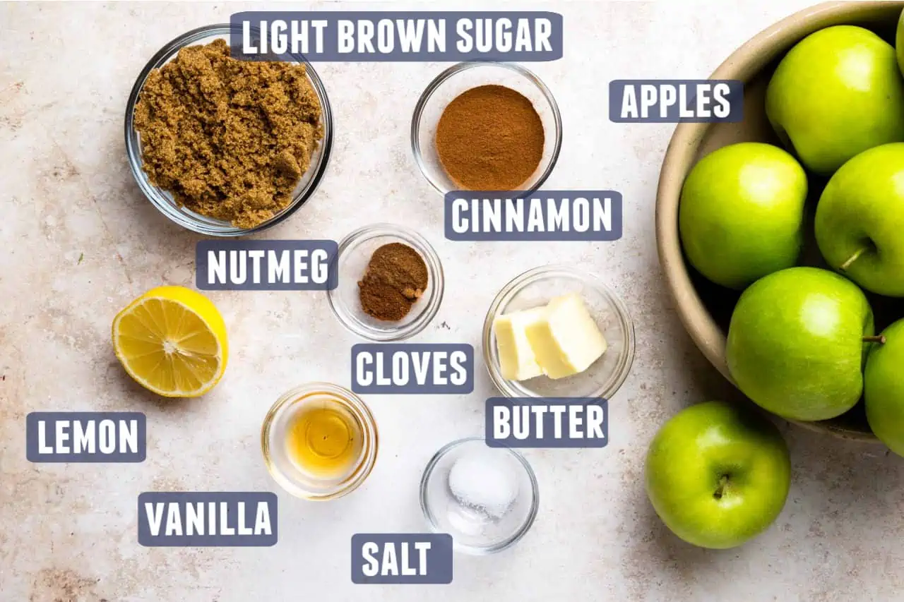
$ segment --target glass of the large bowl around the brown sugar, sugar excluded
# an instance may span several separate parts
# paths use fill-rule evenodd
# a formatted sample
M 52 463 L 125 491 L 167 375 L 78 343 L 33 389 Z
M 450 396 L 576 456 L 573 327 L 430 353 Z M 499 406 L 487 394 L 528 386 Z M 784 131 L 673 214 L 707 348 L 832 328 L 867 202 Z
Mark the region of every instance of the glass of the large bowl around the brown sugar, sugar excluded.
M 133 123 L 138 96 L 141 94 L 141 89 L 145 86 L 148 74 L 150 74 L 152 70 L 159 69 L 168 61 L 174 59 L 176 54 L 185 46 L 206 44 L 213 42 L 216 39 L 225 39 L 229 42 L 230 31 L 230 24 L 208 25 L 184 33 L 172 42 L 166 44 L 160 52 L 157 52 L 154 57 L 148 61 L 145 68 L 138 74 L 138 79 L 132 87 L 132 92 L 128 95 L 126 107 L 126 150 L 128 154 L 128 165 L 132 169 L 132 175 L 135 176 L 135 180 L 138 183 L 141 192 L 145 193 L 148 200 L 153 202 L 155 207 L 171 221 L 174 221 L 188 230 L 193 230 L 194 232 L 199 232 L 208 236 L 243 236 L 251 234 L 252 232 L 266 230 L 267 228 L 284 221 L 288 216 L 296 212 L 298 208 L 315 193 L 315 190 L 326 171 L 326 164 L 329 161 L 330 152 L 333 148 L 333 110 L 330 108 L 330 101 L 326 97 L 324 84 L 314 68 L 311 67 L 310 63 L 305 61 L 301 55 L 288 55 L 295 59 L 296 62 L 303 62 L 306 64 L 308 80 L 310 80 L 311 85 L 314 87 L 317 94 L 317 99 L 320 101 L 322 112 L 321 123 L 324 128 L 324 136 L 321 138 L 320 144 L 317 145 L 315 153 L 311 157 L 310 167 L 308 167 L 307 172 L 301 176 L 301 179 L 297 183 L 295 192 L 292 194 L 292 202 L 290 202 L 285 209 L 278 212 L 268 221 L 264 221 L 253 228 L 237 228 L 229 221 L 215 220 L 179 206 L 174 201 L 172 194 L 150 182 L 147 174 L 145 174 L 145 170 L 142 168 L 141 136 L 138 135 Z

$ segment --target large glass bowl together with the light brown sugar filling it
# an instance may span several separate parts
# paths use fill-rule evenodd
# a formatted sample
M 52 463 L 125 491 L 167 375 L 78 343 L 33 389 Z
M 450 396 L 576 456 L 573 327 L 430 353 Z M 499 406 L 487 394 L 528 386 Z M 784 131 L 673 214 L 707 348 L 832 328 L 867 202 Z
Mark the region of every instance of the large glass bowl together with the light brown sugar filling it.
M 243 61 L 231 25 L 179 36 L 139 74 L 126 109 L 138 187 L 170 220 L 241 236 L 285 220 L 315 192 L 333 140 L 323 82 L 300 55 Z

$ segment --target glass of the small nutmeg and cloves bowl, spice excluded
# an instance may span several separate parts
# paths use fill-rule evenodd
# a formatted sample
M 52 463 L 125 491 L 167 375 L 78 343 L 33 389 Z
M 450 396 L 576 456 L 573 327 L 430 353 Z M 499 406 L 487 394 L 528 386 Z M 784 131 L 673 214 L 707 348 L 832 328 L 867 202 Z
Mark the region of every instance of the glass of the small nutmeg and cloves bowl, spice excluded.
M 427 264 L 428 282 L 423 295 L 398 322 L 385 322 L 364 313 L 358 296 L 358 281 L 363 277 L 373 251 L 391 242 L 406 244 L 419 252 Z M 391 223 L 377 223 L 354 230 L 339 243 L 334 259 L 338 286 L 326 296 L 333 313 L 354 334 L 372 341 L 400 341 L 418 334 L 430 323 L 443 299 L 443 267 L 430 243 L 414 230 Z

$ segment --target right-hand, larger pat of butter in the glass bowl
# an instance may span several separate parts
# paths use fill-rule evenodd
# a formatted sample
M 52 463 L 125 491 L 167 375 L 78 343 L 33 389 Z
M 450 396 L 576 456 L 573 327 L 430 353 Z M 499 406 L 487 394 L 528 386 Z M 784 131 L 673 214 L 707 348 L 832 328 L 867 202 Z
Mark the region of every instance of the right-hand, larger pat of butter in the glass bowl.
M 534 356 L 551 379 L 584 372 L 606 352 L 606 339 L 577 294 L 557 296 L 525 325 Z

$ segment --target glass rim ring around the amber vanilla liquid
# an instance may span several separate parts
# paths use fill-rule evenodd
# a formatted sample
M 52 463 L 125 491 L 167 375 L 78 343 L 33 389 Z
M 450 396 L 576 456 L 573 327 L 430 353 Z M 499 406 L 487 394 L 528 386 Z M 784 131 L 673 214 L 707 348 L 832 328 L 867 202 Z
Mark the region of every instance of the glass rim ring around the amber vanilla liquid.
M 353 472 L 341 483 L 335 484 L 333 490 L 326 491 L 322 494 L 312 493 L 287 477 L 287 475 L 276 466 L 270 451 L 270 428 L 278 414 L 286 409 L 289 404 L 304 398 L 307 394 L 315 392 L 332 393 L 347 401 L 355 419 L 361 423 L 363 428 L 363 447 L 361 451 L 361 460 L 359 461 L 358 466 L 355 466 Z M 312 502 L 325 502 L 351 494 L 371 474 L 373 466 L 376 464 L 379 447 L 377 423 L 376 420 L 373 419 L 371 409 L 352 391 L 331 382 L 306 382 L 305 384 L 287 390 L 280 395 L 279 399 L 270 407 L 267 416 L 264 418 L 263 425 L 260 428 L 260 448 L 264 456 L 264 464 L 267 466 L 267 471 L 270 476 L 273 477 L 273 480 L 289 494 Z

